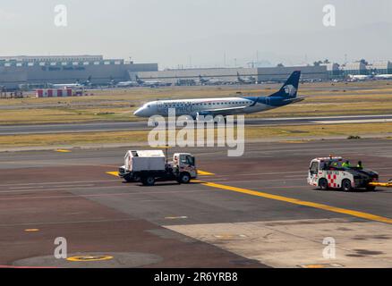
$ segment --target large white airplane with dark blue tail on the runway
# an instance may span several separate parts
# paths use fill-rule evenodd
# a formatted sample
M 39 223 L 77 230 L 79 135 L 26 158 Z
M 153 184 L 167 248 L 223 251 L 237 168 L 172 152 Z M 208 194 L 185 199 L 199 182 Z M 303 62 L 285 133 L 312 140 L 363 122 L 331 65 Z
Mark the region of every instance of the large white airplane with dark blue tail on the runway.
M 153 115 L 167 116 L 169 109 L 175 109 L 176 116 L 189 115 L 198 120 L 200 116 L 253 114 L 299 102 L 297 97 L 301 71 L 294 71 L 285 84 L 269 97 L 220 97 L 151 101 L 134 112 L 139 117 Z

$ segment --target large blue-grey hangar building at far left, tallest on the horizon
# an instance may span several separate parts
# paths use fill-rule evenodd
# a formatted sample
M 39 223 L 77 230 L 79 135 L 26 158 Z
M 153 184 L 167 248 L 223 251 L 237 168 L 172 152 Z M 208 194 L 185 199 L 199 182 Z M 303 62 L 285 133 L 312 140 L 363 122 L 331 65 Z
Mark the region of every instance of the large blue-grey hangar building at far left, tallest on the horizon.
M 0 57 L 0 86 L 73 83 L 91 79 L 93 84 L 130 80 L 130 72 L 158 71 L 158 63 L 132 63 L 104 59 L 102 55 L 50 55 Z

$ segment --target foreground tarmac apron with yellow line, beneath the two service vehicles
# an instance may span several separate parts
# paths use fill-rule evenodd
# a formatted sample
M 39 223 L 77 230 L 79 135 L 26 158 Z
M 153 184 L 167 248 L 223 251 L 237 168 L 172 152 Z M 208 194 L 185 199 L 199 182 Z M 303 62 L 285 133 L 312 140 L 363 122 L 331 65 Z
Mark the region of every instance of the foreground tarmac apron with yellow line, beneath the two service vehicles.
M 310 160 L 329 154 L 361 159 L 388 181 L 391 143 L 251 143 L 242 157 L 187 148 L 211 174 L 154 187 L 107 173 L 123 164 L 126 147 L 1 153 L 0 265 L 391 267 L 392 189 L 306 184 Z M 56 259 L 57 237 L 66 239 L 69 257 L 109 258 Z M 331 238 L 336 257 L 326 258 L 323 242 Z

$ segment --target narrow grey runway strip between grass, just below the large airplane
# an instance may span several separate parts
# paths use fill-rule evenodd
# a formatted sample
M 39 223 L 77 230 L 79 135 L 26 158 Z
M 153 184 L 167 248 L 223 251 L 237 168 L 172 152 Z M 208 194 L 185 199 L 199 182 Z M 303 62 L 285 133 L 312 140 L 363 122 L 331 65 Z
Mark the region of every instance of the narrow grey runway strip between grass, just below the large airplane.
M 294 118 L 248 118 L 245 124 L 254 126 L 283 126 L 301 124 L 392 122 L 392 114 L 320 116 Z M 141 122 L 94 122 L 73 124 L 0 125 L 0 135 L 45 134 L 85 131 L 149 130 L 147 120 Z

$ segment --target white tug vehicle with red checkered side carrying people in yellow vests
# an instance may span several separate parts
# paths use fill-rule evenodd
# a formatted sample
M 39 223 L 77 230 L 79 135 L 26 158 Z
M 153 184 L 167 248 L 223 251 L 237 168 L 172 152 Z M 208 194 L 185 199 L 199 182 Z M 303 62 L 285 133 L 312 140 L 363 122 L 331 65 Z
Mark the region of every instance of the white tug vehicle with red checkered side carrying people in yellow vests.
M 345 167 L 342 157 L 323 157 L 311 160 L 308 183 L 322 190 L 342 189 L 351 191 L 364 188 L 376 189 L 379 181 L 377 172 L 359 167 Z

